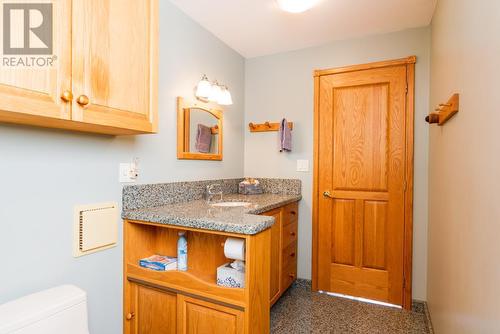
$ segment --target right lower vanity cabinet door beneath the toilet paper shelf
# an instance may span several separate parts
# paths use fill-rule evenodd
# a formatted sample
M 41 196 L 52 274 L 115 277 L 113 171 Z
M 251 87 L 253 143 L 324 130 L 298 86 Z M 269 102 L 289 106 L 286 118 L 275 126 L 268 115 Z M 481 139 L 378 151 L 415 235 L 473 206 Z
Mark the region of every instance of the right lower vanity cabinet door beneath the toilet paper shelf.
M 181 334 L 243 333 L 243 312 L 218 304 L 178 295 Z

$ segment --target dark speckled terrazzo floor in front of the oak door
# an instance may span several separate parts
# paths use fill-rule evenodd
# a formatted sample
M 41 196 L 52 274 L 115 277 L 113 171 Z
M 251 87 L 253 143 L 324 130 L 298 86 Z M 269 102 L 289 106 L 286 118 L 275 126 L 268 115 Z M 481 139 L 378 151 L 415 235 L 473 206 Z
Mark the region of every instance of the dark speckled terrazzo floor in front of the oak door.
M 430 333 L 423 312 L 311 292 L 294 284 L 271 309 L 271 333 Z

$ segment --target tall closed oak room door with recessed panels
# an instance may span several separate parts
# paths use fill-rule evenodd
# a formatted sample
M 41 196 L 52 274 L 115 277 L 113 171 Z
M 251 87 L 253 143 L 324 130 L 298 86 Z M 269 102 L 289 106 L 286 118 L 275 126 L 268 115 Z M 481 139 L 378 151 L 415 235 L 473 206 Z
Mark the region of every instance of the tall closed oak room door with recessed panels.
M 408 66 L 317 78 L 318 290 L 403 305 Z

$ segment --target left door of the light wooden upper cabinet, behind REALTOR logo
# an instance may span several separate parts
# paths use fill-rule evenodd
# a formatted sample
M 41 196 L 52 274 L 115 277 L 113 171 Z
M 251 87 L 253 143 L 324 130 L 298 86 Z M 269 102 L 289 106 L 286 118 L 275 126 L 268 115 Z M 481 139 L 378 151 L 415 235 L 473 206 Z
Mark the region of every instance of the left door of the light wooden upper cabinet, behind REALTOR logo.
M 52 54 L 3 55 L 0 121 L 49 126 L 51 119 L 71 118 L 71 102 L 61 99 L 65 91 L 71 90 L 71 0 L 52 1 L 51 5 Z M 23 14 L 22 10 L 18 13 Z M 11 22 L 16 22 L 11 25 L 12 31 L 24 31 L 23 20 L 12 18 Z M 28 40 L 24 45 L 31 43 Z

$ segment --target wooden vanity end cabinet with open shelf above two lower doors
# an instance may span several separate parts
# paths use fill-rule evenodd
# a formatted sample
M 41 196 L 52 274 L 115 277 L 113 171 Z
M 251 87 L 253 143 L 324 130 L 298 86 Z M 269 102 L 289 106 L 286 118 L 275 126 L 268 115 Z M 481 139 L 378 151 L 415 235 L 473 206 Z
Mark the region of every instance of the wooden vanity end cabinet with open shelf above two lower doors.
M 188 240 L 187 271 L 139 266 L 153 254 L 176 256 L 178 232 Z M 245 240 L 245 287 L 217 285 L 228 237 Z M 124 334 L 268 334 L 271 231 L 237 234 L 124 221 Z

